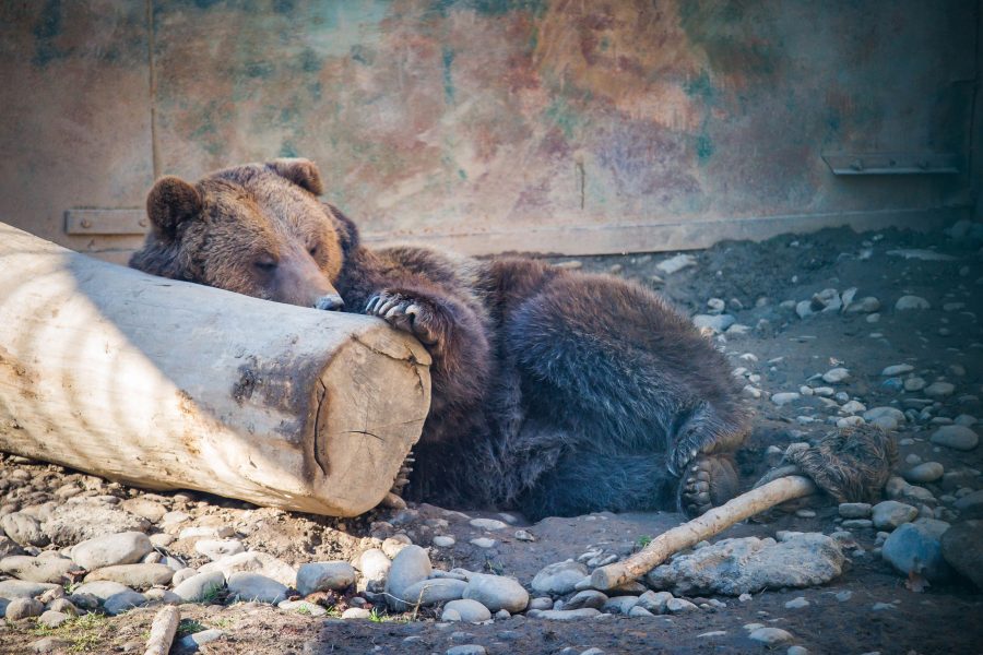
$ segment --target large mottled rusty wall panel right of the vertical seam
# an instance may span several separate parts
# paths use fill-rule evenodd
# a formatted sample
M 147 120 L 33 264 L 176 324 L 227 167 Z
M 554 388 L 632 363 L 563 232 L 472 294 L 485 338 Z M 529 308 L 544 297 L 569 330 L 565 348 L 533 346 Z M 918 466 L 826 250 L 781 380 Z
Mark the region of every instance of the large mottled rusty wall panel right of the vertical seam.
M 164 170 L 310 156 L 377 241 L 629 250 L 647 227 L 969 202 L 966 175 L 848 184 L 821 154 L 964 156 L 971 3 L 155 8 Z

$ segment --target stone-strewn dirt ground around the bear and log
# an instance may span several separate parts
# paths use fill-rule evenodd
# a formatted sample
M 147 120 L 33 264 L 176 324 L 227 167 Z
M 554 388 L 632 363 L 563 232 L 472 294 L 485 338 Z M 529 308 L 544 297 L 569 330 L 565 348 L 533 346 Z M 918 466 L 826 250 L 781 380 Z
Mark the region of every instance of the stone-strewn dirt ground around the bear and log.
M 846 229 L 679 255 L 554 260 L 659 289 L 755 412 L 745 486 L 793 443 L 873 424 L 881 502 L 734 526 L 603 594 L 596 567 L 683 517 L 411 505 L 334 520 L 0 461 L 0 653 L 980 653 L 983 228 Z M 5 535 L 5 536 L 4 536 Z

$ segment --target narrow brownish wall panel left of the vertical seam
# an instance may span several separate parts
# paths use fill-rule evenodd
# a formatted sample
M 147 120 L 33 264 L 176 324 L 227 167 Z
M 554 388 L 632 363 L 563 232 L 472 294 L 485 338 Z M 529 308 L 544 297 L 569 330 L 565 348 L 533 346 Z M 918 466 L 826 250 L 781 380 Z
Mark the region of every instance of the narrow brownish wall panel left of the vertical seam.
M 0 221 L 83 251 L 142 241 L 69 235 L 64 213 L 143 206 L 147 70 L 143 3 L 0 3 Z

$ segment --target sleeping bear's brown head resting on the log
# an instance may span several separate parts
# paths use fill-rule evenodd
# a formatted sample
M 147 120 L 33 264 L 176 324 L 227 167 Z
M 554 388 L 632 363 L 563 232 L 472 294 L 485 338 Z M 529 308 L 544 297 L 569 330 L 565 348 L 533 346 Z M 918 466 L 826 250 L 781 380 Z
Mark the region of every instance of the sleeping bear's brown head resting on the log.
M 226 168 L 196 184 L 164 177 L 147 195 L 152 229 L 130 265 L 268 300 L 341 309 L 334 283 L 358 235 L 341 212 L 318 201 L 322 190 L 307 159 Z

